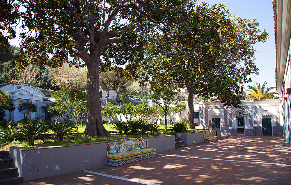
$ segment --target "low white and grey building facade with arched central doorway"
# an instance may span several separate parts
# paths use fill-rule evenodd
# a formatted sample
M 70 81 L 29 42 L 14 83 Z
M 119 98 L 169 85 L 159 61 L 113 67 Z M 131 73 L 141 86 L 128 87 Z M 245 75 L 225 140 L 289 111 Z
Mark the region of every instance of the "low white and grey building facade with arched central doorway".
M 199 128 L 221 129 L 222 135 L 283 136 L 280 99 L 242 100 L 241 108 L 219 101 L 201 101 Z

